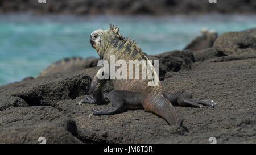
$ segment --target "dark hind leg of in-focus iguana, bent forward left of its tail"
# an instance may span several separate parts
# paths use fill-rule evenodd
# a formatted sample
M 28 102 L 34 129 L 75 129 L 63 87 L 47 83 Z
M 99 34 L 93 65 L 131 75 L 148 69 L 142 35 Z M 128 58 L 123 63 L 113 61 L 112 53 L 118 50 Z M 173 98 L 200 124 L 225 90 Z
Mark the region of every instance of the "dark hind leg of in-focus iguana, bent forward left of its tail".
M 112 115 L 122 112 L 125 107 L 130 108 L 140 108 L 141 100 L 143 99 L 143 95 L 141 93 L 125 91 L 125 90 L 113 90 L 109 94 L 109 100 L 112 104 L 111 107 L 106 107 L 101 110 L 98 108 L 92 108 L 93 115 Z

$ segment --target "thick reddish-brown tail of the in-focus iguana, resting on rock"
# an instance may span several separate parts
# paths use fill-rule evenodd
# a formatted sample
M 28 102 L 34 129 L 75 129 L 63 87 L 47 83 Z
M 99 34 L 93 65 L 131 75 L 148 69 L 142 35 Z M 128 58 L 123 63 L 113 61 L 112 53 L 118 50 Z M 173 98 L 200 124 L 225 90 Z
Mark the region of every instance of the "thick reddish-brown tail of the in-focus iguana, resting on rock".
M 170 125 L 180 127 L 183 122 L 183 119 L 177 117 L 174 106 L 163 95 L 149 95 L 143 107 L 146 111 L 154 112 L 164 118 Z

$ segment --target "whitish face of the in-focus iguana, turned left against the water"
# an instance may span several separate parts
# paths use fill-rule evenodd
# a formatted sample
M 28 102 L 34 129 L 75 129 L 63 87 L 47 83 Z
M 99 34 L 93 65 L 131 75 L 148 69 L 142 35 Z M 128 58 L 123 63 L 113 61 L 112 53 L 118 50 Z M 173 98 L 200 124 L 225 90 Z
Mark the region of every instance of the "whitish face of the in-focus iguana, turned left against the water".
M 90 44 L 97 51 L 98 51 L 98 48 L 100 48 L 103 33 L 104 33 L 104 30 L 98 29 L 98 30 L 93 31 L 92 34 L 90 34 Z

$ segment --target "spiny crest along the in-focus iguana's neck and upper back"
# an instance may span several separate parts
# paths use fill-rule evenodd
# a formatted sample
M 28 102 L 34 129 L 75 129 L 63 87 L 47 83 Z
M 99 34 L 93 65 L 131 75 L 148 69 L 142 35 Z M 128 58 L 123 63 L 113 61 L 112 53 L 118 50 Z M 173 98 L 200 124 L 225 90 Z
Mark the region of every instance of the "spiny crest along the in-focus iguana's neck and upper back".
M 109 30 L 113 31 L 119 40 L 124 41 L 124 42 L 128 42 L 129 45 L 134 47 L 139 53 L 141 53 L 141 55 L 144 58 L 146 58 L 146 56 L 143 54 L 143 52 L 142 52 L 141 48 L 139 47 L 139 45 L 137 43 L 135 43 L 134 40 L 130 40 L 130 37 L 123 37 L 120 34 L 120 32 L 119 32 L 119 28 L 120 27 L 117 27 L 117 25 L 109 24 Z

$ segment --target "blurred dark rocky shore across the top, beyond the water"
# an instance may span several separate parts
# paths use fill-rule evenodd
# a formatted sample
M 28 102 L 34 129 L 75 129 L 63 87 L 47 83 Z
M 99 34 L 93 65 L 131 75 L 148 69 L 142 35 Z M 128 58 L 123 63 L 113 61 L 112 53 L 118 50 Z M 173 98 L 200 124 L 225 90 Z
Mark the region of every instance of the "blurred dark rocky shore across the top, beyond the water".
M 222 0 L 217 3 L 194 0 L 2 0 L 0 12 L 27 12 L 36 14 L 204 14 L 204 13 L 255 13 L 256 2 Z

